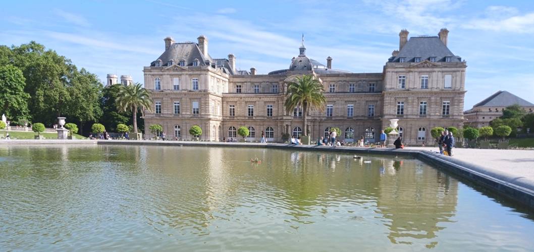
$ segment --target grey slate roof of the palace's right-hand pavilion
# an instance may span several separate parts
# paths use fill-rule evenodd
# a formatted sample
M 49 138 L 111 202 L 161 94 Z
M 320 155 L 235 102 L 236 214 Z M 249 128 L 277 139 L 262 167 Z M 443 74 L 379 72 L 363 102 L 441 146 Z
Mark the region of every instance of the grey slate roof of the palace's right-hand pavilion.
M 389 62 L 399 62 L 400 58 L 405 58 L 405 62 L 414 62 L 415 57 L 420 57 L 421 61 L 436 57 L 439 62 L 445 61 L 446 56 L 452 57 L 450 62 L 461 61 L 437 36 L 411 37 L 397 56 L 389 58 Z

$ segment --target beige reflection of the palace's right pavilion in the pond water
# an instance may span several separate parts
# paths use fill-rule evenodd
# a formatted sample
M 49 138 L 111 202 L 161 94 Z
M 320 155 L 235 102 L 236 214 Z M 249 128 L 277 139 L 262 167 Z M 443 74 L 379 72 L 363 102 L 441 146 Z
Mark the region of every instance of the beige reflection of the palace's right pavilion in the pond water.
M 377 201 L 378 213 L 389 219 L 385 224 L 388 238 L 392 243 L 428 239 L 427 247 L 436 246 L 431 239 L 444 229 L 439 223 L 451 222 L 456 212 L 458 181 L 415 160 L 392 162 L 391 166 L 395 173 L 381 177 Z

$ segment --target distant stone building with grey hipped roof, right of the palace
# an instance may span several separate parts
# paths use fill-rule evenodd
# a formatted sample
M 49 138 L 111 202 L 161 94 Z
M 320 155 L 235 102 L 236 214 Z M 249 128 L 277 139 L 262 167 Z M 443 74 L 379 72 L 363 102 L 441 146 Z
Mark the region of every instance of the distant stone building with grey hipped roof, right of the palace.
M 534 104 L 508 91 L 498 91 L 464 112 L 466 124 L 477 128 L 489 126 L 491 120 L 502 116 L 502 109 L 514 104 L 519 104 L 527 113 L 534 110 Z

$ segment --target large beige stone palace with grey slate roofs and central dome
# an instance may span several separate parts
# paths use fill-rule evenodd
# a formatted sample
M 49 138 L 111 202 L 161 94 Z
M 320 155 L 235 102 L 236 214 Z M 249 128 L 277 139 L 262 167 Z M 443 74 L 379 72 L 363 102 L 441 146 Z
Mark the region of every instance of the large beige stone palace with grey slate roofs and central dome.
M 464 120 L 466 62 L 447 48 L 448 32 L 408 39 L 402 30 L 399 50 L 382 72 L 371 74 L 334 69 L 329 56 L 326 65 L 308 58 L 304 39 L 288 69 L 258 75 L 255 68 L 237 70 L 233 54 L 211 58 L 203 35 L 198 43 L 167 37 L 163 54 L 143 69 L 154 100 L 145 128 L 161 124 L 168 139 L 191 139 L 189 128 L 199 125 L 202 140 L 222 141 L 239 137 L 237 128 L 246 126 L 249 141 L 260 140 L 262 131 L 269 141 L 281 141 L 282 133 L 302 134 L 302 111 L 284 108 L 286 85 L 313 75 L 324 85 L 327 102 L 324 112 L 309 112 L 312 139 L 338 127 L 341 140 L 375 142 L 389 119 L 397 118 L 406 143 L 426 144 L 433 141 L 430 128 L 461 127 Z

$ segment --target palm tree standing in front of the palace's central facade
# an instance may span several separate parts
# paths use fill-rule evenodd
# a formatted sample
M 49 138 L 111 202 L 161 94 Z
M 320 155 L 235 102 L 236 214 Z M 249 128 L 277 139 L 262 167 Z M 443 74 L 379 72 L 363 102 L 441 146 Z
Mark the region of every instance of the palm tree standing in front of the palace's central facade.
M 323 84 L 312 75 L 303 75 L 296 77 L 296 82 L 287 84 L 286 92 L 286 111 L 292 112 L 295 108 L 302 108 L 302 133 L 308 135 L 307 121 L 308 110 L 325 109 L 326 99 L 323 95 Z

